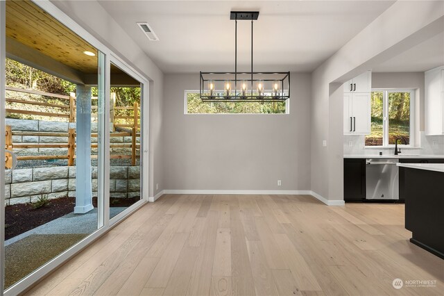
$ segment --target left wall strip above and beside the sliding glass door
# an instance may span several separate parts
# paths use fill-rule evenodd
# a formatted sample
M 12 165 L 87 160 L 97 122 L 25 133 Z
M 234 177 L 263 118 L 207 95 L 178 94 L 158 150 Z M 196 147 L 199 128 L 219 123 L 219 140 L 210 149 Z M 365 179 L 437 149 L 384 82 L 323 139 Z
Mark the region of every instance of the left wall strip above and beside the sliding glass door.
M 163 73 L 97 1 L 51 1 L 150 81 L 150 192 L 163 189 Z M 155 184 L 159 189 L 155 190 Z

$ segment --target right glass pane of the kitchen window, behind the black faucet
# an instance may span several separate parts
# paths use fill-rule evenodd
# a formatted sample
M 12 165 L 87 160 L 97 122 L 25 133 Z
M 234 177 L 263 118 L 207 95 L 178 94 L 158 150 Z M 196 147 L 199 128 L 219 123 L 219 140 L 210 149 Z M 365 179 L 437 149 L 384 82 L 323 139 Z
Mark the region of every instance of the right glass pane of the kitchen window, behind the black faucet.
M 388 92 L 388 144 L 399 137 L 410 142 L 410 92 Z

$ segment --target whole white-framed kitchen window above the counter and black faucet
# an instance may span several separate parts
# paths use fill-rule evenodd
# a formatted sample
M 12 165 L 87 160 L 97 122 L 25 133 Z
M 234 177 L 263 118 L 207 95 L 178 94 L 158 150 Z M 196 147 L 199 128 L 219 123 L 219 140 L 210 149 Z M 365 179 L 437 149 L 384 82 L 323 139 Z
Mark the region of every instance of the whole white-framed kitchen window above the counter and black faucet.
M 373 90 L 371 92 L 371 132 L 366 147 L 395 145 L 396 138 L 413 142 L 414 91 Z M 404 145 L 400 140 L 398 145 Z

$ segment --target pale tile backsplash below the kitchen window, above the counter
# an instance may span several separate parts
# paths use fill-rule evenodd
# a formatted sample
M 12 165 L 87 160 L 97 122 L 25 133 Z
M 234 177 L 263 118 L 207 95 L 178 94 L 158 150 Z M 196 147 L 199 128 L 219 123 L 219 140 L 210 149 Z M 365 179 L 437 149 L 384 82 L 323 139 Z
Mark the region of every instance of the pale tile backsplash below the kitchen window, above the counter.
M 365 135 L 344 135 L 343 136 L 344 155 L 383 155 L 393 154 L 393 148 L 366 148 Z M 424 154 L 424 155 L 444 155 L 444 135 L 425 135 L 420 132 L 420 148 L 404 149 L 404 154 Z M 401 148 L 401 150 L 403 150 Z

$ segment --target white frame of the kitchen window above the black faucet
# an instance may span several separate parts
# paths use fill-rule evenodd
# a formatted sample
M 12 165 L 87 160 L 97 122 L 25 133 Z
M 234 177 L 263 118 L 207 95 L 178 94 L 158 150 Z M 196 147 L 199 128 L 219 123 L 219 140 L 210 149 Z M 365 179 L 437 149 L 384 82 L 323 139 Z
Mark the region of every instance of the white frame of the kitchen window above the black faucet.
M 409 144 L 398 144 L 398 147 L 408 147 L 413 148 L 415 143 L 415 89 L 414 88 L 372 88 L 371 92 L 383 92 L 383 101 L 382 101 L 382 117 L 383 117 L 383 123 L 382 123 L 382 146 L 367 146 L 365 145 L 364 141 L 364 147 L 366 149 L 368 148 L 393 148 L 395 147 L 394 144 L 388 144 L 388 129 L 390 120 L 388 118 L 388 93 L 389 92 L 409 92 L 410 93 L 410 130 L 409 130 Z M 370 110 L 370 116 L 371 116 L 371 110 Z M 413 144 L 412 144 L 413 143 Z

